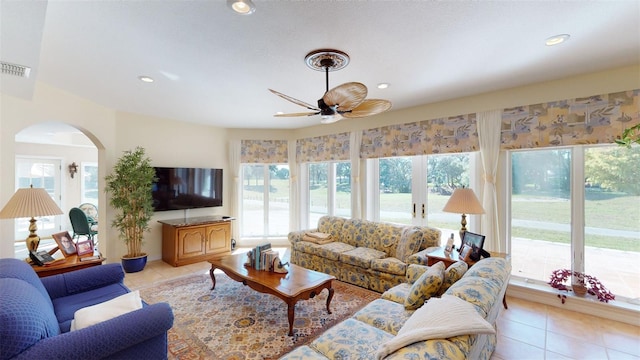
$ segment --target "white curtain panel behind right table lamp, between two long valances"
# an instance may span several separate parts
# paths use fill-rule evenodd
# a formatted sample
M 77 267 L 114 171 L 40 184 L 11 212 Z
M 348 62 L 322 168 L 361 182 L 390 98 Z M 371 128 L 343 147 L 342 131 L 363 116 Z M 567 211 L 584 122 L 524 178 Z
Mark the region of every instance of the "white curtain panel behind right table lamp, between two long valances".
M 484 189 L 482 196 L 482 232 L 486 236 L 485 248 L 489 251 L 504 252 L 500 241 L 498 225 L 498 201 L 496 194 L 496 174 L 500 155 L 500 129 L 502 110 L 478 113 L 478 140 L 482 158 Z

